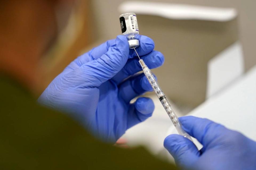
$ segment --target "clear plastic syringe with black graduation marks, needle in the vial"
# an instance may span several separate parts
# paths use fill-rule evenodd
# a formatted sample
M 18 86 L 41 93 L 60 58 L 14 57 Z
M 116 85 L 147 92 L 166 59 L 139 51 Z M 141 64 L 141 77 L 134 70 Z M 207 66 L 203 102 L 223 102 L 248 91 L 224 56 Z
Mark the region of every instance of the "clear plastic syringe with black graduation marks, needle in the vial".
M 139 57 L 139 54 L 137 53 L 135 48 L 134 48 L 134 50 L 135 50 L 137 56 Z M 175 114 L 173 108 L 171 107 L 168 99 L 166 98 L 165 94 L 163 93 L 163 91 L 162 91 L 161 87 L 159 86 L 157 80 L 155 79 L 153 73 L 151 72 L 151 70 L 147 67 L 147 65 L 144 63 L 144 61 L 140 57 L 139 57 L 139 63 L 141 65 L 142 69 L 143 69 L 143 72 L 144 72 L 147 80 L 149 80 L 149 83 L 151 84 L 151 87 L 153 88 L 155 94 L 157 95 L 158 99 L 160 100 L 163 107 L 165 108 L 166 113 L 171 118 L 171 121 L 173 122 L 173 125 L 177 129 L 178 133 L 180 135 L 184 136 L 185 138 L 188 138 L 190 141 L 193 142 L 190 135 L 187 134 L 182 129 L 182 125 L 179 122 L 177 115 Z

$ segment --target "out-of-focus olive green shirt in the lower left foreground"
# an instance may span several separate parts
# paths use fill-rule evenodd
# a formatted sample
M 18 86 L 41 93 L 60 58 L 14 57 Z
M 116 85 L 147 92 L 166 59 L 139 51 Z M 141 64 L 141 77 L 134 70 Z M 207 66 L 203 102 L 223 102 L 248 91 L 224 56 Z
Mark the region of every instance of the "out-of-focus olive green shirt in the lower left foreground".
M 0 169 L 176 169 L 144 148 L 102 143 L 66 114 L 0 77 Z

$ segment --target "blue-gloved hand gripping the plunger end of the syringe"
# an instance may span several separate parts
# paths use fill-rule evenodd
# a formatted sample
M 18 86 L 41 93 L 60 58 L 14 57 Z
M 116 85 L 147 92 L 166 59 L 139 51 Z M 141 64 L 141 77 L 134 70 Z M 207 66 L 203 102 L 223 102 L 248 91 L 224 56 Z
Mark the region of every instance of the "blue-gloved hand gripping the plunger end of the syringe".
M 169 135 L 164 146 L 178 166 L 198 170 L 256 169 L 256 142 L 208 119 L 186 116 L 179 120 L 203 148 L 198 151 L 189 139 Z

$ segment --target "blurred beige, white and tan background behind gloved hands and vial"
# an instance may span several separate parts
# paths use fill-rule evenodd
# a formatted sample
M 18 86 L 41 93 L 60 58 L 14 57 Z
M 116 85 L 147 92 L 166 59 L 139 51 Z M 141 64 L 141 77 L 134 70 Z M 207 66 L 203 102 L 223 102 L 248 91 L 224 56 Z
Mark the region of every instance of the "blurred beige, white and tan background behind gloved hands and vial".
M 165 56 L 153 72 L 178 116 L 211 118 L 256 139 L 255 6 L 255 0 L 81 1 L 42 62 L 41 91 L 77 56 L 121 34 L 119 15 L 135 12 L 139 33 Z M 166 159 L 163 139 L 175 129 L 154 94 L 146 95 L 155 102 L 153 117 L 122 139 Z M 241 128 L 244 108 L 251 121 Z

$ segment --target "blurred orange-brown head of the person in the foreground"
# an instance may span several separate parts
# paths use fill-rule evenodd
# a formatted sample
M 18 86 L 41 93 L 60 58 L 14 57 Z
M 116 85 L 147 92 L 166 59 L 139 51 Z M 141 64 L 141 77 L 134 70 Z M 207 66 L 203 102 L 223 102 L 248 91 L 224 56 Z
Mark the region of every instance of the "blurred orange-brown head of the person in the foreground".
M 35 88 L 38 62 L 65 26 L 74 1 L 0 1 L 0 71 Z

